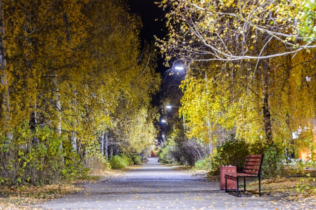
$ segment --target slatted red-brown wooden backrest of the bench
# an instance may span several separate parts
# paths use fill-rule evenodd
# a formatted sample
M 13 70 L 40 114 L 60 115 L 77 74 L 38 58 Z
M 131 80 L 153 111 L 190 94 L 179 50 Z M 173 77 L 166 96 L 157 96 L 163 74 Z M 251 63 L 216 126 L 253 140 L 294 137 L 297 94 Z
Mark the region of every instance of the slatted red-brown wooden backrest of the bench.
M 260 176 L 263 159 L 264 155 L 247 155 L 243 173 Z

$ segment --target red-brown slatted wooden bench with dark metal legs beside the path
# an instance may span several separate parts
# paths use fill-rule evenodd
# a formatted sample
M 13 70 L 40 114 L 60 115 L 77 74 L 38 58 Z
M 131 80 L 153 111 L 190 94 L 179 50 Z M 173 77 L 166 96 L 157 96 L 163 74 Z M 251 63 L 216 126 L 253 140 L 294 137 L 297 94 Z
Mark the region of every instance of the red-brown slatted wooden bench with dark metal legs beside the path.
M 247 155 L 243 172 L 242 173 L 226 173 L 225 174 L 225 192 L 237 192 L 237 197 L 239 196 L 239 178 L 244 179 L 244 191 L 246 191 L 246 178 L 258 178 L 259 181 L 259 196 L 261 196 L 260 192 L 260 170 L 262 160 L 264 159 L 264 155 Z M 227 190 L 227 179 L 234 180 L 237 182 L 237 189 Z

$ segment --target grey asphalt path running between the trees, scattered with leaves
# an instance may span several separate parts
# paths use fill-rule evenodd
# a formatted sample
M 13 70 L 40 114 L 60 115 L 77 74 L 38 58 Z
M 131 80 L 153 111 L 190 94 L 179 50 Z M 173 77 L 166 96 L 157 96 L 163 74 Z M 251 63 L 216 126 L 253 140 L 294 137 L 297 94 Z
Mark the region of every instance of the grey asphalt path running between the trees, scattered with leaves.
M 235 197 L 219 182 L 191 176 L 157 158 L 124 176 L 83 183 L 82 191 L 37 204 L 43 209 L 309 209 L 273 196 Z

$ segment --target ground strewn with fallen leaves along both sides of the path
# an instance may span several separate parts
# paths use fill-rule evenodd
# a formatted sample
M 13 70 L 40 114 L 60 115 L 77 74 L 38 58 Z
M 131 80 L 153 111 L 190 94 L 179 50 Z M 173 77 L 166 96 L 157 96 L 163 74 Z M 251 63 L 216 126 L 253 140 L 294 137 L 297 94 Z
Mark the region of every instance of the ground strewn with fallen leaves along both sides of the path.
M 190 173 L 191 175 L 200 176 L 209 179 L 209 181 L 219 181 L 218 176 L 209 176 L 205 171 L 193 171 L 189 168 L 180 167 L 180 170 Z M 127 169 L 128 170 L 128 169 Z M 76 180 L 78 182 L 102 182 L 113 177 L 122 176 L 127 171 L 123 170 L 109 170 L 102 174 L 93 175 L 85 180 Z M 302 195 L 295 191 L 295 187 L 300 183 L 301 177 L 289 177 L 279 179 L 265 179 L 261 181 L 262 196 L 274 196 L 276 202 L 284 202 L 294 200 L 300 203 L 301 208 L 305 209 L 305 205 L 316 206 L 315 195 Z M 28 206 L 43 202 L 48 199 L 58 198 L 65 194 L 74 193 L 81 190 L 72 183 L 61 183 L 58 185 L 46 186 L 19 186 L 19 187 L 0 187 L 0 210 L 4 209 L 29 209 Z M 247 191 L 257 193 L 257 183 L 248 183 Z M 33 208 L 34 209 L 34 208 Z M 39 209 L 39 208 L 37 208 Z

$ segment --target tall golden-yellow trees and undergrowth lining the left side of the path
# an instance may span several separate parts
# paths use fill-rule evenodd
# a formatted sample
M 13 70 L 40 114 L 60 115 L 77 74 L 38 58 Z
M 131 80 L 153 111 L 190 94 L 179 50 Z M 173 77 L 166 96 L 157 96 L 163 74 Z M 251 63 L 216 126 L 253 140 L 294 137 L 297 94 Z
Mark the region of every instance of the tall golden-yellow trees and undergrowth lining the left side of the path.
M 74 179 L 109 167 L 100 145 L 104 156 L 150 147 L 161 77 L 125 3 L 21 0 L 0 10 L 0 182 Z M 30 129 L 17 128 L 24 121 Z

